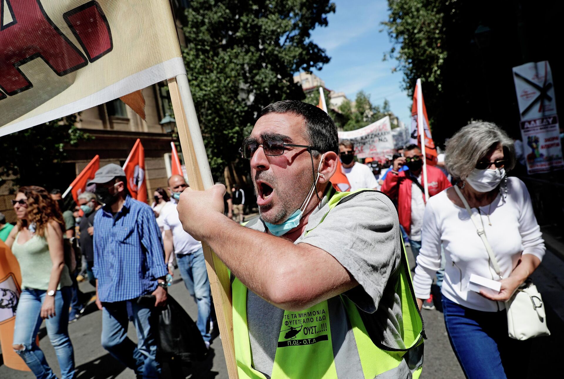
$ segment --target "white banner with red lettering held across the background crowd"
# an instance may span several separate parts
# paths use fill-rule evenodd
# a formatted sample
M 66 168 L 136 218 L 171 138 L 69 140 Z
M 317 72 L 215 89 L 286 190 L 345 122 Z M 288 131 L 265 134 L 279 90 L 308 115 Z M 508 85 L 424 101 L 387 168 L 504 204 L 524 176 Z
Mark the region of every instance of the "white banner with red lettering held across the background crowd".
M 393 155 L 394 138 L 391 134 L 390 116 L 381 118 L 361 129 L 338 132 L 339 139 L 350 139 L 354 143 L 355 155 L 359 158 Z

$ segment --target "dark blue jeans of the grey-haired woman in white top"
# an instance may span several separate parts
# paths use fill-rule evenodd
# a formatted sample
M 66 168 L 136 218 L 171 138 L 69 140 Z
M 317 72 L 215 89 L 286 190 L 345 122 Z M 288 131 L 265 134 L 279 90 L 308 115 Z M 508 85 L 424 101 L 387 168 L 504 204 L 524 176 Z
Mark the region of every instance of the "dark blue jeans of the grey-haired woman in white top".
M 477 311 L 444 296 L 442 302 L 448 338 L 467 378 L 526 376 L 531 341 L 513 340 L 508 336 L 505 310 Z

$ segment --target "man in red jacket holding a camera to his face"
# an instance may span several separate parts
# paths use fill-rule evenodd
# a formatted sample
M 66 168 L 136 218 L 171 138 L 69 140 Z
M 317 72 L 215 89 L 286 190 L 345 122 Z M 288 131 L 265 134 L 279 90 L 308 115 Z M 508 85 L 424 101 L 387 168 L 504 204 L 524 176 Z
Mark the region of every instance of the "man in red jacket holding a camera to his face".
M 407 165 L 408 170 L 400 171 L 403 165 Z M 421 149 L 417 145 L 409 145 L 404 150 L 404 156 L 394 160 L 394 166 L 382 184 L 382 192 L 398 202 L 399 223 L 409 236 L 411 251 L 416 259 L 421 249 L 421 227 L 425 213 L 422 166 Z M 451 187 L 443 171 L 431 165 L 426 167 L 429 196 Z

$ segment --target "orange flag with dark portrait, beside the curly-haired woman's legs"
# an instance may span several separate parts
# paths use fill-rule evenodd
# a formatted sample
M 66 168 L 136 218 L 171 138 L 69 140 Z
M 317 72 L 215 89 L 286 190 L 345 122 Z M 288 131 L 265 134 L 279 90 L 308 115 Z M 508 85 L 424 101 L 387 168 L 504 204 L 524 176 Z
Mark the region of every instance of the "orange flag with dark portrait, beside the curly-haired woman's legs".
M 2 358 L 7 367 L 29 371 L 28 365 L 12 349 L 16 305 L 20 297 L 20 283 L 20 265 L 8 245 L 0 240 L 0 304 L 2 305 L 0 307 L 0 345 L 2 345 Z

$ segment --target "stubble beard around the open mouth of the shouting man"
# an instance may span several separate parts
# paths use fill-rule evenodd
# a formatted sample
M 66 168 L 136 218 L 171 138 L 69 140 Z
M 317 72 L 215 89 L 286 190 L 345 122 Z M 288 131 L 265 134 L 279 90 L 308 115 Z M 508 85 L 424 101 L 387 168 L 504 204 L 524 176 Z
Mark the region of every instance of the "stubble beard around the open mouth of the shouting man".
M 253 182 L 255 191 L 257 191 L 257 184 L 256 180 L 258 180 L 259 175 L 255 175 L 255 180 Z M 312 177 L 310 173 L 307 172 L 307 169 L 302 171 L 301 175 L 296 178 L 298 183 L 307 183 L 303 188 L 295 188 L 294 191 L 291 189 L 286 191 L 285 193 L 281 193 L 279 191 L 279 186 L 277 186 L 276 180 L 267 180 L 266 178 L 274 179 L 271 175 L 260 175 L 261 179 L 265 179 L 267 182 L 271 183 L 276 188 L 273 189 L 272 195 L 276 193 L 278 204 L 274 205 L 272 203 L 266 206 L 258 206 L 258 212 L 261 215 L 263 221 L 266 221 L 271 224 L 280 224 L 286 221 L 300 206 L 302 206 L 303 201 L 306 200 L 307 194 L 311 189 L 311 180 Z M 272 196 L 271 195 L 271 196 Z M 299 201 L 299 204 L 296 204 L 296 201 Z M 277 210 L 274 214 L 265 214 L 270 211 L 274 206 L 276 206 Z

